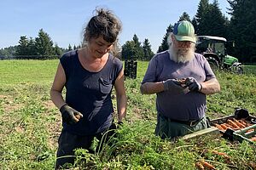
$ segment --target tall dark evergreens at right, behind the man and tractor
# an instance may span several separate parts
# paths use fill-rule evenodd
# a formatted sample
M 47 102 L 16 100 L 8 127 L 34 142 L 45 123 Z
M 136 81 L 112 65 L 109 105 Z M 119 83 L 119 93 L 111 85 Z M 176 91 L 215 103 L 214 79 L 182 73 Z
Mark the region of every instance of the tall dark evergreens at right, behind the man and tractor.
M 227 53 L 235 56 L 241 62 L 256 62 L 256 11 L 255 0 L 227 0 L 230 3 L 228 14 L 230 20 L 222 14 L 218 0 L 201 0 L 197 12 L 192 20 L 184 12 L 179 20 L 189 20 L 195 26 L 195 33 L 199 36 L 225 37 L 235 42 L 235 47 L 226 46 Z M 167 36 L 172 32 L 173 26 L 166 29 L 158 52 L 168 48 Z

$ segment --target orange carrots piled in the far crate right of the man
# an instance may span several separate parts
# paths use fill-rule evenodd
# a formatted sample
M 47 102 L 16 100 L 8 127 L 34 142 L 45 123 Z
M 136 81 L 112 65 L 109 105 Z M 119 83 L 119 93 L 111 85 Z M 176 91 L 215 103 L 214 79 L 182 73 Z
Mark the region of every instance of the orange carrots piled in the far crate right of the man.
M 221 131 L 225 131 L 225 130 L 227 130 L 227 128 L 231 128 L 233 130 L 238 130 L 238 129 L 241 129 L 241 128 L 251 126 L 251 124 L 247 123 L 246 121 L 236 120 L 235 118 L 228 119 L 227 122 L 224 122 L 222 124 L 215 123 L 213 125 Z

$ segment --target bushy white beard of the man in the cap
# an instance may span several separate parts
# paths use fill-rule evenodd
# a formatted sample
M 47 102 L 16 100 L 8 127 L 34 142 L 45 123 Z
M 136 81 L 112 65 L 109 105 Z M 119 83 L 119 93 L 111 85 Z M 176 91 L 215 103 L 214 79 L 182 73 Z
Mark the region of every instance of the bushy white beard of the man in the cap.
M 194 46 L 189 49 L 177 49 L 171 44 L 168 52 L 170 54 L 170 59 L 176 63 L 185 63 L 195 57 Z

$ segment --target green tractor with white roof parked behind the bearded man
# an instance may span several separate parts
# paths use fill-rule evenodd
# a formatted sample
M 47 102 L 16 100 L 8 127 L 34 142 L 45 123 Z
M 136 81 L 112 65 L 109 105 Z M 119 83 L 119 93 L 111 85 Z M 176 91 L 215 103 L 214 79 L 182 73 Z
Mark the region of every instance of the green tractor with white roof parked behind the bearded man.
M 224 37 L 198 36 L 195 52 L 207 58 L 212 70 L 222 69 L 242 74 L 243 69 L 238 59 L 226 53 L 226 43 L 227 40 Z

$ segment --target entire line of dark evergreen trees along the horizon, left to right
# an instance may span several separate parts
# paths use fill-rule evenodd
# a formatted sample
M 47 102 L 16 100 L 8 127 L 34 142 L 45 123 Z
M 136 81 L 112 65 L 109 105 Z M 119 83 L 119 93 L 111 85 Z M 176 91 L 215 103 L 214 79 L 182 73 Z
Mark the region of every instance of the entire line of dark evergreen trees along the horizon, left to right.
M 256 17 L 254 16 L 256 1 L 227 0 L 227 2 L 230 4 L 230 8 L 227 8 L 230 19 L 222 14 L 218 0 L 213 0 L 212 3 L 209 3 L 209 0 L 201 0 L 192 20 L 186 12 L 183 12 L 179 20 L 189 20 L 195 26 L 197 35 L 225 37 L 228 41 L 234 41 L 236 46 L 235 48 L 228 46 L 228 54 L 235 56 L 241 62 L 256 62 Z M 163 36 L 157 52 L 169 48 L 167 37 L 172 29 L 172 24 L 166 28 L 166 34 Z M 41 29 L 38 32 L 38 37 L 27 38 L 21 36 L 18 46 L 2 48 L 0 49 L 0 55 L 60 56 L 68 50 L 80 47 L 80 45 L 77 47 L 69 45 L 68 48 L 60 48 Z M 119 50 L 122 59 L 148 60 L 154 56 L 148 38 L 142 43 L 139 41 L 137 34 L 134 34 L 131 41 L 125 42 Z

